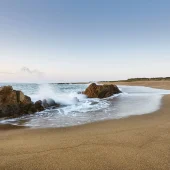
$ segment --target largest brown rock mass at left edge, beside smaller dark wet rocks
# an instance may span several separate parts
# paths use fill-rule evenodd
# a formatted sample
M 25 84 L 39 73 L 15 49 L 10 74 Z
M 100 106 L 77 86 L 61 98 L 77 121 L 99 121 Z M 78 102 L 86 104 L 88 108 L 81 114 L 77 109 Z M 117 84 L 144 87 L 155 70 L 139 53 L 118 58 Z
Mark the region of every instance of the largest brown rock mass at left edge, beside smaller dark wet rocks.
M 0 117 L 16 117 L 37 111 L 31 98 L 11 86 L 0 87 Z

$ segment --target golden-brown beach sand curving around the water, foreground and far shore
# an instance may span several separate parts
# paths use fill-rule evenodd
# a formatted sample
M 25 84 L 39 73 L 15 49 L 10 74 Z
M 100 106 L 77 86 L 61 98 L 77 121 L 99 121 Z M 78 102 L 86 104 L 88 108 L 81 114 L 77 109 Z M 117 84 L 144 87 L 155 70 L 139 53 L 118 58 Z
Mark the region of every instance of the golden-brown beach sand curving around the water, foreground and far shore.
M 170 89 L 170 82 L 132 84 Z M 170 95 L 147 115 L 59 129 L 2 126 L 0 169 L 169 170 Z

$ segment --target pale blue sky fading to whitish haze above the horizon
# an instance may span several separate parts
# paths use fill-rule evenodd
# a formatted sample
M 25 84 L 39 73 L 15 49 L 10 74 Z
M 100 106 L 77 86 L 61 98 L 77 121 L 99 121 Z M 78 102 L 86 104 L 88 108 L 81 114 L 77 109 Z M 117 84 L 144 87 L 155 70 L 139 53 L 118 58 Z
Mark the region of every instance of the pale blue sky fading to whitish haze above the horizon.
M 0 82 L 170 76 L 169 0 L 0 0 Z

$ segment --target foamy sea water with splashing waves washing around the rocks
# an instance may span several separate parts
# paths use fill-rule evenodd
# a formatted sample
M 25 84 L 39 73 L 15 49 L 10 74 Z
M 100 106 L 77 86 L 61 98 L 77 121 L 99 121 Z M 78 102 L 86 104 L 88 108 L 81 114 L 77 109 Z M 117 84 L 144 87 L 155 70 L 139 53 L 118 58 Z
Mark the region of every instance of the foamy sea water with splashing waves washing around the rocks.
M 118 86 L 123 93 L 106 99 L 88 99 L 78 94 L 85 90 L 87 84 L 12 84 L 12 86 L 14 89 L 22 90 L 33 101 L 50 97 L 61 104 L 57 109 L 46 109 L 34 115 L 0 120 L 1 124 L 36 128 L 74 126 L 151 113 L 160 108 L 162 96 L 170 94 L 169 90 Z

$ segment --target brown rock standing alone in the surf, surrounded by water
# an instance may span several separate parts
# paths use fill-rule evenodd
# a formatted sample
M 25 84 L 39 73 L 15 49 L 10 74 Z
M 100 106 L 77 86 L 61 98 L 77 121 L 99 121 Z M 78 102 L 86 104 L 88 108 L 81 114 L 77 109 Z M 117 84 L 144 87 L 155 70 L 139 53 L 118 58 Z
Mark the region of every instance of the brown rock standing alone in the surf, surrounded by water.
M 113 84 L 96 85 L 95 83 L 92 83 L 83 93 L 89 98 L 106 98 L 121 93 L 121 91 Z

